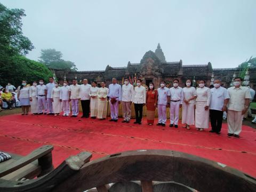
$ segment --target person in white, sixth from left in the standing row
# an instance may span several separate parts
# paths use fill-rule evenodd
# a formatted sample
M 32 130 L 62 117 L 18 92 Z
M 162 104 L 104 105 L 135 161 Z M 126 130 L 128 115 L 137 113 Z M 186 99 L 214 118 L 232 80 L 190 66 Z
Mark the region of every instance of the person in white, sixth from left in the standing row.
M 62 101 L 62 110 L 64 112 L 62 116 L 69 116 L 69 86 L 67 81 L 64 81 L 63 86 L 60 88 L 60 101 Z

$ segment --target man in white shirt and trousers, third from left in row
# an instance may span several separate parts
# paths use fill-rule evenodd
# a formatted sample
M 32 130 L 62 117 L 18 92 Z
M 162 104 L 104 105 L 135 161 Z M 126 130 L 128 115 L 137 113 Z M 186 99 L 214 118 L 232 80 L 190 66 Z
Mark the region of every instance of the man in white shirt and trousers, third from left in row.
M 47 95 L 47 87 L 44 85 L 44 80 L 39 80 L 39 85 L 36 86 L 37 88 L 37 104 L 38 104 L 38 115 L 43 114 L 43 107 L 44 107 L 44 115 L 47 114 L 47 103 L 46 103 L 46 95 Z

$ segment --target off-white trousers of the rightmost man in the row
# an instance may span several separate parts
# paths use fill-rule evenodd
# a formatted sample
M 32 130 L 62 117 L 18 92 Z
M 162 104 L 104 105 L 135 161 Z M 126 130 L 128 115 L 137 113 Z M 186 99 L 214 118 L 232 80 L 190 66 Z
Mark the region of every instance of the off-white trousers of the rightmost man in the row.
M 228 133 L 237 134 L 242 131 L 242 111 L 228 110 Z

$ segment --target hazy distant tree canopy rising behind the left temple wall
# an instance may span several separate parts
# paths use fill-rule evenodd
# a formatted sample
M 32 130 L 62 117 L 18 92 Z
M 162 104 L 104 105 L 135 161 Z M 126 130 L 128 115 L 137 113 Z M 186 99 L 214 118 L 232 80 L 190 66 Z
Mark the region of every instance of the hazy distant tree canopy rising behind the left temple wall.
M 51 69 L 63 69 L 76 71 L 76 65 L 74 62 L 65 61 L 62 58 L 62 53 L 56 51 L 55 49 L 42 49 L 40 62 L 44 63 L 47 67 Z

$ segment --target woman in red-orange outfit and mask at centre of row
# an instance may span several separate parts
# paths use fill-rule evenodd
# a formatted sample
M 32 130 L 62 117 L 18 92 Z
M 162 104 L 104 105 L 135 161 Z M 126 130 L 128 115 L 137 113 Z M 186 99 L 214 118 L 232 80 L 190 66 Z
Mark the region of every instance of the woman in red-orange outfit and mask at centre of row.
M 149 125 L 154 124 L 155 110 L 157 103 L 157 90 L 154 83 L 149 83 L 149 90 L 147 92 L 146 106 L 147 106 L 147 122 Z

